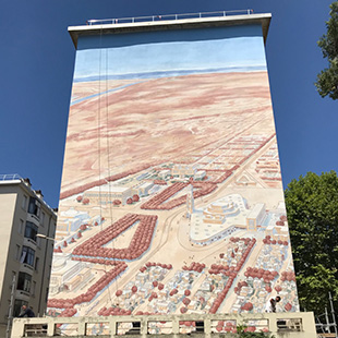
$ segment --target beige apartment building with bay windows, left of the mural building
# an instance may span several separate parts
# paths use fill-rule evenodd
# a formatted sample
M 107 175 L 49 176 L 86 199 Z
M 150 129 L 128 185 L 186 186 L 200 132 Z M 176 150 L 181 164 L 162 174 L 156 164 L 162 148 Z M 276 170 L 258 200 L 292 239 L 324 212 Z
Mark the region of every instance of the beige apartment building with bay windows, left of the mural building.
M 57 214 L 28 179 L 12 174 L 0 176 L 0 337 L 4 337 L 11 303 L 13 316 L 24 304 L 36 316 L 46 310 Z

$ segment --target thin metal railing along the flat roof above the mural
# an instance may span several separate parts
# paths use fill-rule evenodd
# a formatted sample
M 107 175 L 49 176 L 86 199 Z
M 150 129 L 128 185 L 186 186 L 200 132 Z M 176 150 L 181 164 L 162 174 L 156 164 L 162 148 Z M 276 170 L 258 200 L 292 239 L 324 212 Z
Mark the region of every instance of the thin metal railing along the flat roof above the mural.
M 201 12 L 201 13 L 185 13 L 185 14 L 166 14 L 166 15 L 152 15 L 152 16 L 134 16 L 134 17 L 119 17 L 119 19 L 93 19 L 87 20 L 87 25 L 111 25 L 122 23 L 140 23 L 140 22 L 154 22 L 154 21 L 168 21 L 168 20 L 185 20 L 185 19 L 202 19 L 202 17 L 219 17 L 230 15 L 251 15 L 252 9 L 236 10 L 236 11 L 218 11 L 218 12 Z

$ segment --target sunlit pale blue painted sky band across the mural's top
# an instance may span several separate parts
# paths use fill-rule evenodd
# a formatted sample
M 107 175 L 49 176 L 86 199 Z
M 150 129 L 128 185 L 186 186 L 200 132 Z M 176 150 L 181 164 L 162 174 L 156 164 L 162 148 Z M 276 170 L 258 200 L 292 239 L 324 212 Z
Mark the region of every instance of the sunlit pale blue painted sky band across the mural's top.
M 263 39 L 253 36 L 79 50 L 74 80 L 97 80 L 107 75 L 144 79 L 265 69 Z

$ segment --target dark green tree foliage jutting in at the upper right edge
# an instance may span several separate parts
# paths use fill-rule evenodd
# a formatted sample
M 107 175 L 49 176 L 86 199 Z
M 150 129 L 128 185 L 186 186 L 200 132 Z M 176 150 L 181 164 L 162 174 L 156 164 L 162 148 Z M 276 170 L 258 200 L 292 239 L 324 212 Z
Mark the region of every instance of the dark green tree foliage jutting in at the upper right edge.
M 315 86 L 322 97 L 338 99 L 338 1 L 330 4 L 330 19 L 326 22 L 327 33 L 322 36 L 318 46 L 328 68 L 317 75 Z

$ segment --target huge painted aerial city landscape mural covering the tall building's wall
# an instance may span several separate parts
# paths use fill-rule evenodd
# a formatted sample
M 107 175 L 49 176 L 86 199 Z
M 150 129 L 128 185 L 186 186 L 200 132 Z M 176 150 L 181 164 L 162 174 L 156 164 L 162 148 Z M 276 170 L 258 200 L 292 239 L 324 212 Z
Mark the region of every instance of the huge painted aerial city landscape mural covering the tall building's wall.
M 77 50 L 50 315 L 298 311 L 263 38 L 218 29 Z

